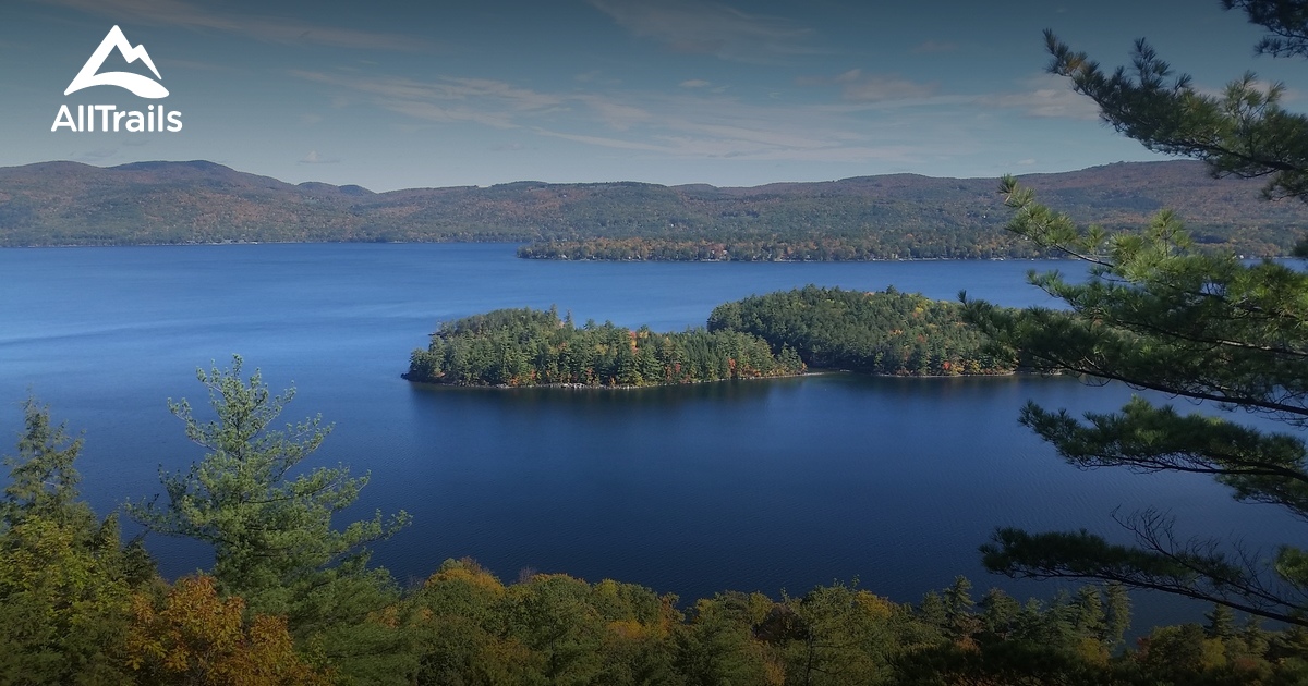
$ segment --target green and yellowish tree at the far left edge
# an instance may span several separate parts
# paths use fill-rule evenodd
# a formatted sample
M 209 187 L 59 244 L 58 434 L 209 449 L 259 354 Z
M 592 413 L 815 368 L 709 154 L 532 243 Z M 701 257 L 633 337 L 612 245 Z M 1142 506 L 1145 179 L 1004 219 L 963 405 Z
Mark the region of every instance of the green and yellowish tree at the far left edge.
M 153 563 L 80 499 L 81 439 L 34 400 L 24 412 L 0 499 L 0 682 L 127 683 L 128 605 Z

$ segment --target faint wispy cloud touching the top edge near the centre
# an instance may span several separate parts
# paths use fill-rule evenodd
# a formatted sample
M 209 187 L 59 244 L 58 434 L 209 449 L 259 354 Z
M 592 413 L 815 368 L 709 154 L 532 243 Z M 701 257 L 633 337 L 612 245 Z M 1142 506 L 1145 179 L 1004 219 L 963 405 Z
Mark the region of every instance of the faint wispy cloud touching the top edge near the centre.
M 676 52 L 747 63 L 816 52 L 812 29 L 721 3 L 590 0 L 590 4 L 633 34 L 653 38 Z

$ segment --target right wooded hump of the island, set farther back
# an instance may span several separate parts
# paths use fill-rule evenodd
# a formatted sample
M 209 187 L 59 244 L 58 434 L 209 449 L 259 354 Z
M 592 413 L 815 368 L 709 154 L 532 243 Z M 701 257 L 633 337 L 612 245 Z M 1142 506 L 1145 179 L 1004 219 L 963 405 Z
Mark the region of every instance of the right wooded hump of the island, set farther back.
M 984 348 L 961 306 L 895 290 L 863 293 L 806 286 L 718 306 L 709 331 L 761 336 L 794 349 L 815 368 L 889 375 L 1006 374 L 1010 359 Z

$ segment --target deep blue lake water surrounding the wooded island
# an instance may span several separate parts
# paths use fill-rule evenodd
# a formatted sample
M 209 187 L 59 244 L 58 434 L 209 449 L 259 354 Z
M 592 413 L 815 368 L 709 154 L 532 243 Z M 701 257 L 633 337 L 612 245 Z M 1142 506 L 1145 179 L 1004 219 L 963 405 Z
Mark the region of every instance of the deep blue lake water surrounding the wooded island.
M 981 570 L 997 525 L 1088 528 L 1150 504 L 1186 533 L 1294 540 L 1274 508 L 1203 477 L 1079 472 L 1016 423 L 1027 400 L 1109 410 L 1130 391 L 1073 379 L 820 375 L 641 391 L 455 389 L 400 379 L 436 323 L 497 307 L 570 310 L 655 329 L 804 284 L 887 285 L 952 299 L 1048 303 L 1028 269 L 1067 263 L 654 264 L 528 261 L 504 244 L 267 244 L 0 251 L 0 436 L 29 392 L 85 430 L 84 494 L 99 512 L 160 491 L 158 469 L 201 457 L 166 399 L 203 405 L 195 368 L 233 353 L 298 395 L 286 421 L 335 431 L 313 465 L 371 472 L 356 510 L 413 515 L 375 546 L 402 583 L 471 555 L 519 570 L 613 578 L 683 598 L 800 593 L 835 579 L 895 600 Z M 1185 404 L 1184 401 L 1181 401 Z M 13 452 L 13 440 L 0 452 Z M 344 525 L 345 519 L 341 520 Z M 149 538 L 166 575 L 203 546 Z M 1138 625 L 1202 608 L 1137 596 Z

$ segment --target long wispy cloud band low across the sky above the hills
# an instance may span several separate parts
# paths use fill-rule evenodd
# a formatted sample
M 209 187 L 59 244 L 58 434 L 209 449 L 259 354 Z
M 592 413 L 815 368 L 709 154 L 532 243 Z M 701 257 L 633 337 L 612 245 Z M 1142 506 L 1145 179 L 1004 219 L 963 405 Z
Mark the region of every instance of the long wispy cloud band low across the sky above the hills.
M 883 98 L 927 95 L 930 86 L 897 82 L 852 71 L 829 84 L 858 89 L 846 102 L 744 102 L 712 85 L 691 84 L 678 93 L 539 91 L 509 82 L 436 77 L 412 80 L 356 72 L 288 72 L 336 89 L 330 97 L 361 99 L 424 123 L 473 123 L 663 158 L 769 161 L 880 161 L 910 163 L 921 155 L 952 153 L 956 135 L 944 124 L 922 124 L 899 115 L 904 102 Z M 872 89 L 879 88 L 879 93 Z M 957 106 L 967 98 L 934 97 L 930 106 Z M 921 103 L 918 103 L 921 105 Z M 399 124 L 404 127 L 404 124 Z M 926 144 L 918 129 L 939 127 Z M 421 128 L 405 128 L 419 135 Z M 908 136 L 906 133 L 910 132 Z M 948 140 L 954 139 L 954 140 Z

